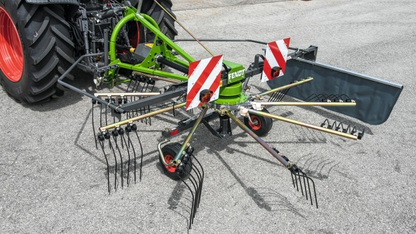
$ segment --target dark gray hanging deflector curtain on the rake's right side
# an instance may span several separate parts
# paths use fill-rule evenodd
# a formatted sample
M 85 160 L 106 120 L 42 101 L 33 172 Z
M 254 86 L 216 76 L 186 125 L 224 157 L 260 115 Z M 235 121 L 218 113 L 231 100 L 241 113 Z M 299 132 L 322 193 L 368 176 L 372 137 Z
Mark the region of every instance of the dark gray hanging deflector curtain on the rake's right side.
M 306 77 L 313 81 L 293 87 L 287 95 L 305 100 L 313 94 L 345 94 L 356 101 L 356 107 L 327 109 L 375 125 L 386 122 L 403 90 L 402 84 L 300 58 L 287 60 L 285 75 L 269 81 L 268 86 L 274 89 Z

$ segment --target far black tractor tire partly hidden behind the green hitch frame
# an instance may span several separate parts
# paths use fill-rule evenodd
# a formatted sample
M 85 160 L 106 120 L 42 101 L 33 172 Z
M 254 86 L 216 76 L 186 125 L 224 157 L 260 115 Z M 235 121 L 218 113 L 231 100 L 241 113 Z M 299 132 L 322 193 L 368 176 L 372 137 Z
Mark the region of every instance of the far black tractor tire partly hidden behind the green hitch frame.
M 159 0 L 160 5 L 162 5 L 174 18 L 176 15 L 172 12 L 172 1 L 171 0 Z M 166 12 L 160 8 L 154 1 L 144 1 L 142 12 L 146 15 L 150 15 L 153 20 L 157 22 L 159 25 L 160 32 L 163 32 L 169 39 L 175 39 L 178 35 L 178 31 L 175 29 L 175 20 L 169 16 Z M 141 43 L 143 42 L 152 42 L 155 40 L 155 34 L 150 32 L 148 29 L 144 29 L 143 26 L 141 27 L 143 32 L 141 35 L 145 35 L 145 37 L 140 37 Z

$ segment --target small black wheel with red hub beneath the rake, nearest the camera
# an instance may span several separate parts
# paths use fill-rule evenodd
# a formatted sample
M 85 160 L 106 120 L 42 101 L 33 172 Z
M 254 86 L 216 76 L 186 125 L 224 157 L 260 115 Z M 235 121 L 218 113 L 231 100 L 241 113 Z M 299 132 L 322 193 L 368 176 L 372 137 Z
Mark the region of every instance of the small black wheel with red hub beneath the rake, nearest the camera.
M 165 162 L 169 162 L 169 160 L 174 160 L 174 157 L 178 154 L 179 150 L 181 150 L 181 144 L 179 144 L 179 143 L 171 143 L 171 144 L 164 145 L 162 147 L 162 152 L 163 152 L 163 155 L 164 155 Z M 162 162 L 162 159 L 160 157 L 159 157 L 159 162 L 160 162 L 160 167 L 162 167 L 163 173 L 167 177 L 169 177 L 169 178 L 171 178 L 175 181 L 180 179 L 178 174 L 176 174 L 176 172 L 175 172 L 176 166 L 174 166 L 174 167 L 164 166 L 164 164 Z M 191 157 L 190 162 L 188 162 L 188 164 L 186 165 L 186 171 L 190 172 L 191 169 L 192 169 L 192 157 Z M 188 178 L 188 175 L 185 174 L 185 173 L 180 174 L 180 176 L 183 179 Z

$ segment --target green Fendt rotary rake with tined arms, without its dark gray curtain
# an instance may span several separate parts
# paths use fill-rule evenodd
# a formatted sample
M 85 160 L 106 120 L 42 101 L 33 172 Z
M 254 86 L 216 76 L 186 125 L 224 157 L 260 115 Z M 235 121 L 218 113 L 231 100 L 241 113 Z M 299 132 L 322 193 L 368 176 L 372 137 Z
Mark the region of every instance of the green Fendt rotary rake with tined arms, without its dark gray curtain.
M 161 8 L 163 7 L 161 6 Z M 138 48 L 129 49 L 130 56 L 136 58 L 137 64 L 124 63 L 117 59 L 116 56 L 116 44 L 119 43 L 117 36 L 129 20 L 136 20 L 155 33 L 155 41 L 151 46 L 149 44 L 138 44 Z M 269 91 L 254 95 L 247 93 L 249 91 L 248 82 L 250 77 L 261 74 L 261 80 L 268 80 L 268 82 L 272 82 L 272 79 L 276 80 L 275 78 L 284 79 L 283 72 L 285 72 L 286 61 L 308 59 L 314 62 L 318 48 L 316 46 L 310 46 L 306 49 L 291 48 L 289 47 L 290 39 L 273 41 L 271 43 L 246 40 L 267 46 L 266 56 L 256 55 L 254 63 L 249 65 L 246 70 L 242 65 L 223 60 L 223 56 L 214 56 L 208 49 L 207 51 L 214 56 L 213 58 L 195 61 L 194 58 L 177 46 L 174 41 L 171 41 L 160 32 L 160 29 L 155 27 L 155 25 L 157 24 L 148 15 L 139 14 L 135 8 L 125 6 L 124 18 L 117 22 L 111 38 L 105 41 L 105 44 L 109 46 L 108 54 L 96 53 L 81 56 L 58 79 L 58 82 L 63 86 L 92 99 L 93 135 L 96 148 L 98 148 L 98 145 L 100 146 L 99 150 L 103 152 L 107 164 L 108 193 L 111 190 L 111 169 L 114 169 L 115 190 L 117 190 L 117 186 L 120 184 L 119 180 L 117 180 L 117 174 L 120 175 L 122 188 L 124 187 L 124 179 L 126 179 L 126 185 L 129 186 L 131 174 L 133 174 L 134 182 L 136 183 L 137 157 L 141 157 L 139 179 L 141 180 L 142 178 L 143 145 L 141 145 L 141 137 L 143 136 L 141 135 L 139 124 L 151 125 L 150 117 L 166 112 L 171 112 L 175 117 L 177 109 L 186 107 L 187 110 L 192 111 L 197 106 L 201 110 L 199 114 L 193 115 L 188 119 L 182 119 L 177 126 L 163 129 L 162 138 L 164 140 L 157 144 L 160 165 L 164 174 L 169 178 L 181 181 L 190 191 L 192 202 L 188 228 L 191 228 L 199 208 L 204 182 L 204 169 L 200 161 L 195 157 L 195 148 L 190 145 L 190 140 L 200 124 L 204 124 L 214 136 L 227 138 L 232 135 L 230 122 L 235 122 L 245 133 L 252 136 L 259 145 L 275 157 L 283 167 L 290 171 L 294 188 L 297 188 L 298 191 L 300 189 L 301 194 L 306 196 L 306 200 L 310 200 L 312 205 L 313 200 L 315 200 L 318 208 L 316 185 L 313 179 L 286 156 L 280 155 L 278 150 L 272 148 L 260 137 L 266 136 L 271 130 L 272 119 L 351 140 L 361 139 L 364 131 L 358 133 L 355 126 L 349 125 L 344 127 L 342 123 L 337 124 L 337 122 L 334 122 L 330 124 L 328 119 L 325 119 L 320 126 L 307 124 L 274 115 L 268 112 L 266 107 L 285 105 L 348 109 L 356 107 L 358 104 L 349 97 L 351 95 L 347 94 L 309 94 L 318 93 L 308 92 L 311 89 L 309 83 L 313 81 L 313 78 L 299 74 L 297 74 L 296 79 Z M 196 38 L 195 40 L 200 43 L 204 41 L 204 39 L 197 40 Z M 278 48 L 277 52 L 276 48 Z M 273 54 L 275 56 L 279 50 L 282 58 L 280 58 L 280 64 L 275 65 L 275 61 L 270 55 Z M 288 50 L 294 50 L 294 52 L 287 53 Z M 267 51 L 272 51 L 273 53 L 268 53 Z M 96 84 L 105 83 L 115 86 L 126 83 L 125 92 L 95 93 L 92 95 L 62 81 L 66 74 L 80 63 L 82 59 L 94 56 L 103 56 L 103 60 L 106 61 L 103 67 L 98 67 L 94 70 L 94 75 L 97 77 Z M 108 56 L 110 56 L 110 60 L 108 60 Z M 213 60 L 214 62 L 212 62 Z M 166 72 L 164 67 L 170 67 L 183 74 Z M 121 77 L 118 74 L 119 68 L 132 70 L 132 72 L 129 77 Z M 287 73 L 289 72 L 286 71 Z M 298 77 L 306 78 L 299 79 Z M 157 81 L 169 82 L 169 84 L 158 86 Z M 304 85 L 302 89 L 300 89 L 301 85 Z M 282 98 L 287 94 L 290 95 L 292 91 L 306 92 L 309 96 L 299 99 L 304 101 L 283 102 Z M 268 96 L 267 102 L 263 101 L 265 96 Z M 213 111 L 207 112 L 208 110 Z M 236 115 L 240 115 L 244 120 L 241 121 Z M 214 128 L 210 122 L 217 118 L 220 122 L 219 128 Z M 97 128 L 96 126 L 99 127 Z M 98 134 L 96 133 L 97 129 Z M 188 129 L 190 129 L 188 136 L 183 143 L 169 143 L 171 137 Z M 164 146 L 162 147 L 162 145 Z M 114 166 L 112 166 L 112 162 L 114 162 Z

